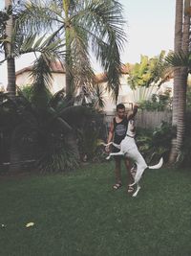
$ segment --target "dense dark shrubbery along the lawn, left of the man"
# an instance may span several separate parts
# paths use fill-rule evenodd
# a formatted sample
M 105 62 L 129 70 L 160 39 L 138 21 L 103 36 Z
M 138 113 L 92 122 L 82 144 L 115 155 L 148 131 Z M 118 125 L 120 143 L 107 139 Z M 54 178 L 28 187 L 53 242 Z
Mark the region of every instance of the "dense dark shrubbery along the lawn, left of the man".
M 100 131 L 96 124 L 102 125 L 102 119 L 96 122 L 98 114 L 86 106 L 68 105 L 59 93 L 50 101 L 42 101 L 46 90 L 40 90 L 36 104 L 32 102 L 36 93 L 32 88 L 24 87 L 25 96 L 18 90 L 15 102 L 2 93 L 0 121 L 11 134 L 10 150 L 17 154 L 14 164 L 35 159 L 33 168 L 42 173 L 74 170 L 79 165 L 78 146 L 81 155 L 93 160 Z M 82 132 L 78 146 L 76 129 Z

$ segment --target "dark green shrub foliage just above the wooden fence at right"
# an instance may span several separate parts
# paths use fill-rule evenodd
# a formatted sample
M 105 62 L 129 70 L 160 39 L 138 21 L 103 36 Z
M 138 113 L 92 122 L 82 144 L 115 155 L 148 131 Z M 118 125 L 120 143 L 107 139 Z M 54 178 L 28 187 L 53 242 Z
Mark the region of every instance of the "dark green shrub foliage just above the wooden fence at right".
M 149 111 L 164 111 L 165 109 L 171 109 L 172 98 L 170 97 L 170 91 L 165 91 L 163 94 L 153 94 L 151 100 L 144 100 L 139 102 L 139 108 Z

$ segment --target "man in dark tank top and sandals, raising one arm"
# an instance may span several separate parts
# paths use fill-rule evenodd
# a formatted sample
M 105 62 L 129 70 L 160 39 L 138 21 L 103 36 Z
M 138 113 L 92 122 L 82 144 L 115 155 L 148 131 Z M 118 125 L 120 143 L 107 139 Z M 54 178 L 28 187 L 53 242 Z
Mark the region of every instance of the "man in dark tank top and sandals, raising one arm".
M 125 106 L 122 104 L 117 105 L 117 116 L 113 119 L 113 121 L 111 123 L 110 131 L 109 131 L 109 135 L 108 135 L 108 143 L 110 143 L 111 141 L 114 141 L 116 144 L 120 144 L 120 142 L 124 139 L 124 137 L 126 135 L 129 120 L 134 118 L 135 115 L 137 114 L 137 112 L 138 112 L 138 105 L 134 105 L 133 113 L 131 113 L 130 115 L 127 116 L 125 113 Z M 105 151 L 110 152 L 111 147 L 107 146 Z M 119 150 L 117 148 L 113 147 L 112 151 L 117 152 Z M 114 158 L 115 158 L 115 162 L 116 162 L 116 167 L 115 167 L 116 183 L 114 184 L 113 188 L 115 190 L 117 190 L 122 186 L 121 170 L 120 170 L 122 156 L 115 155 Z M 124 161 L 125 161 L 125 166 L 126 166 L 127 173 L 128 173 L 128 182 L 129 182 L 128 184 L 131 184 L 133 182 L 133 176 L 130 172 L 131 163 L 130 163 L 130 160 L 126 157 L 125 157 Z M 127 192 L 132 193 L 133 187 L 128 186 Z

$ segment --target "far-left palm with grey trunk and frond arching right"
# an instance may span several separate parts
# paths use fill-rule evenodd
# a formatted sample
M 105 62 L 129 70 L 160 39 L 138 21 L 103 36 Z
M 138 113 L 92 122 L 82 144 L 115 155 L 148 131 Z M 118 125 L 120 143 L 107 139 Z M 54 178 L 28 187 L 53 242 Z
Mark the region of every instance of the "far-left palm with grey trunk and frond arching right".
M 0 54 L 4 54 L 1 63 L 7 61 L 8 66 L 8 92 L 14 99 L 16 93 L 15 86 L 15 58 L 28 53 L 43 53 L 53 60 L 61 59 L 64 51 L 60 40 L 51 42 L 50 37 L 45 39 L 45 35 L 22 34 L 18 26 L 20 9 L 14 9 L 11 0 L 5 1 L 6 9 L 2 11 L 0 20 Z

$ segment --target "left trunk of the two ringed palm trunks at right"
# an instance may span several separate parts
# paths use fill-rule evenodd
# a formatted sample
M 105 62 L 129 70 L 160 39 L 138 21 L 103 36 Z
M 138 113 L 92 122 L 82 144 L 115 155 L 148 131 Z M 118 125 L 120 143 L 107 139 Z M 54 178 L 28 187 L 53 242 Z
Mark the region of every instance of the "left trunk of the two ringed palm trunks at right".
M 182 12 L 183 12 L 183 0 L 176 0 L 175 39 L 174 39 L 175 54 L 179 53 L 181 50 Z M 172 125 L 176 128 L 178 123 L 179 94 L 180 94 L 180 68 L 176 68 L 174 71 L 173 117 L 172 117 Z M 169 156 L 170 164 L 176 161 L 177 155 L 178 155 L 177 138 L 173 138 L 171 152 Z

